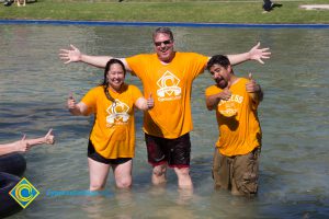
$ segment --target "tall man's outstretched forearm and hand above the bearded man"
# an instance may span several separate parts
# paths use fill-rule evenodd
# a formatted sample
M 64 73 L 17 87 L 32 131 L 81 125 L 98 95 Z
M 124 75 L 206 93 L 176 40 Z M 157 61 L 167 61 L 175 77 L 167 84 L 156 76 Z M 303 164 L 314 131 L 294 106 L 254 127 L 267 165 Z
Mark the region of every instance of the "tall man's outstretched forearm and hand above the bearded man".
M 238 65 L 248 60 L 257 60 L 260 64 L 264 64 L 262 59 L 269 59 L 271 56 L 269 50 L 270 48 L 260 48 L 260 43 L 258 43 L 248 53 L 228 55 L 227 57 L 231 65 Z

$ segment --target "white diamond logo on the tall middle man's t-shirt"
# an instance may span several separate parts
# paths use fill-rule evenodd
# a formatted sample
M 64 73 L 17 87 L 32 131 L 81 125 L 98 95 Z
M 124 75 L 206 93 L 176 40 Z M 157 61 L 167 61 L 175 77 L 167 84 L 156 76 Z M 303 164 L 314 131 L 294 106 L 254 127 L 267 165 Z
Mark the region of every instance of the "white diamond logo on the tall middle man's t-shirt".
M 181 99 L 182 89 L 179 87 L 180 79 L 166 71 L 162 77 L 157 81 L 159 89 L 157 95 L 159 101 L 172 101 Z

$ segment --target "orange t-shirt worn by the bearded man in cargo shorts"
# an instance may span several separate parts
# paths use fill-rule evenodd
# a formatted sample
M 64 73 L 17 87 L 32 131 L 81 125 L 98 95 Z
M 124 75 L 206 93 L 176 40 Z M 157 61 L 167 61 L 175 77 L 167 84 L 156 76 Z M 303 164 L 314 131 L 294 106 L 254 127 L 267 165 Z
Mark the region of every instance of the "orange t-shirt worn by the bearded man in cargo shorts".
M 216 147 L 224 155 L 247 154 L 261 146 L 261 127 L 256 103 L 246 91 L 247 79 L 239 80 L 230 87 L 231 97 L 220 101 L 216 110 L 219 138 Z M 214 95 L 223 90 L 217 85 L 208 87 L 205 95 Z

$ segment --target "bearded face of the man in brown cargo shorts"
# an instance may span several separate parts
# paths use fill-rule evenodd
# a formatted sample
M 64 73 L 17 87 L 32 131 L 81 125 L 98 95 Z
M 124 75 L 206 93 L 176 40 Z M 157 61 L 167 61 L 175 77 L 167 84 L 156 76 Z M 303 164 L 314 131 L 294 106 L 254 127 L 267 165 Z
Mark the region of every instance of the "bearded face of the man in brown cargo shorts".
M 223 66 L 215 64 L 209 68 L 209 71 L 216 84 L 220 89 L 225 89 L 228 85 L 228 82 L 230 80 L 230 72 L 231 72 L 230 66 L 224 68 Z

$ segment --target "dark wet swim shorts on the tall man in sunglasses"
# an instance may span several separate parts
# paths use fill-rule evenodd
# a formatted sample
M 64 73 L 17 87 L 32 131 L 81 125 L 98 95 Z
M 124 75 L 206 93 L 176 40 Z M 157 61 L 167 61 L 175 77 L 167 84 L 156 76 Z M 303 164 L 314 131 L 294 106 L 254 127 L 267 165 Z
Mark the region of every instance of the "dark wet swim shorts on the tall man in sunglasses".
M 154 166 L 168 163 L 170 168 L 189 168 L 191 154 L 190 135 L 168 139 L 145 134 L 148 162 Z

